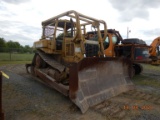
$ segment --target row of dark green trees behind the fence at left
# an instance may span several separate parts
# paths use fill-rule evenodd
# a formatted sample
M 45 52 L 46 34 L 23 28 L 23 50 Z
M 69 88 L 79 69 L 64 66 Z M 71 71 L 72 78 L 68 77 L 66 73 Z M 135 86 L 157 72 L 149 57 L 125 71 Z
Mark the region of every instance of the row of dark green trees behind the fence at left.
M 19 42 L 12 40 L 6 41 L 0 37 L 0 52 L 32 53 L 33 48 L 29 45 L 22 46 Z

